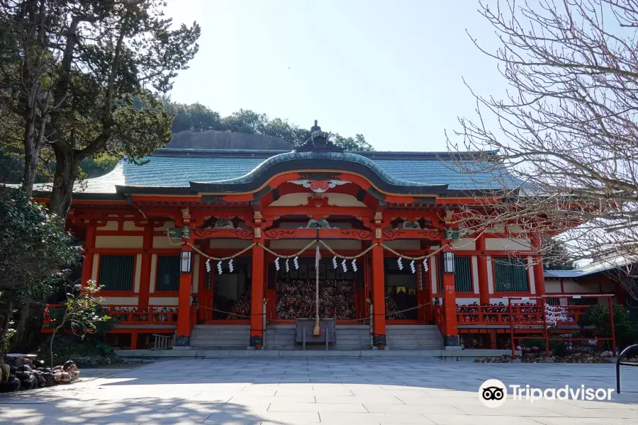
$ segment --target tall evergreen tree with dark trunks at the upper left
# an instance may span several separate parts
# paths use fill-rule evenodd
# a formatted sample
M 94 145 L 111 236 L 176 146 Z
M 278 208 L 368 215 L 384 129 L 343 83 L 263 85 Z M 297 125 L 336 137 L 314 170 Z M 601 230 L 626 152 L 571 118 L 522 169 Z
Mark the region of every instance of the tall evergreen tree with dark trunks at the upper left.
M 55 162 L 49 208 L 65 217 L 79 164 L 135 162 L 169 142 L 157 94 L 198 50 L 199 26 L 172 28 L 164 0 L 0 0 L 4 140 L 25 152 L 30 193 L 43 149 Z M 7 128 L 8 127 L 8 128 Z

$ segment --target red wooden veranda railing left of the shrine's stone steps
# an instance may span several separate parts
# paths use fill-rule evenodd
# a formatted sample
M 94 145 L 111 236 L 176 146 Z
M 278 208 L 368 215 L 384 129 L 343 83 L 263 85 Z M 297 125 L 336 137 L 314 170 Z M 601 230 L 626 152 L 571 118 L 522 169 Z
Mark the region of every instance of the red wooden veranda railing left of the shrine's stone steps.
M 49 309 L 62 307 L 60 304 L 47 304 L 44 311 L 43 324 L 52 322 Z M 172 305 L 151 305 L 147 311 L 132 311 L 136 307 L 130 305 L 103 305 L 109 317 L 118 324 L 177 324 L 177 307 Z

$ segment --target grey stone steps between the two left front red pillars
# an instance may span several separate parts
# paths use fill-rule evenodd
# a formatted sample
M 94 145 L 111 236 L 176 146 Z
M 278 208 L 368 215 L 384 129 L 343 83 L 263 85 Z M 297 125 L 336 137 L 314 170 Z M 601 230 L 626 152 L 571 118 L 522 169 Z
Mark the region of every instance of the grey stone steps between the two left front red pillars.
M 250 325 L 198 324 L 191 334 L 191 347 L 206 350 L 245 350 L 250 345 Z

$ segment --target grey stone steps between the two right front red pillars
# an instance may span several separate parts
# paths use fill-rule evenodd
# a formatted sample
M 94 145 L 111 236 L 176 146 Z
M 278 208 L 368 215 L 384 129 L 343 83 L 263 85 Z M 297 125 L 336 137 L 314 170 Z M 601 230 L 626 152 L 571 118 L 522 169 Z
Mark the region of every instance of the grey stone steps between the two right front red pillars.
M 386 325 L 386 343 L 391 350 L 442 350 L 443 336 L 435 324 Z

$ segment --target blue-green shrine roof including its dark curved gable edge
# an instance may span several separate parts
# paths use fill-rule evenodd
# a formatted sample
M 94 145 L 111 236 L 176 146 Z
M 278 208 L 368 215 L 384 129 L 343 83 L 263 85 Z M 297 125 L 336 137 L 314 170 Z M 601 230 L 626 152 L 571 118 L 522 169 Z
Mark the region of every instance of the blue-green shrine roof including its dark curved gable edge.
M 467 191 L 503 189 L 495 174 L 483 172 L 470 176 L 455 169 L 451 159 L 449 152 L 158 149 L 145 158 L 144 165 L 122 161 L 104 176 L 78 182 L 74 192 L 82 198 L 133 192 L 232 193 L 250 191 L 264 183 L 268 176 L 282 171 L 313 169 L 361 174 L 382 190 L 393 193 L 459 195 Z M 50 184 L 36 185 L 35 190 L 50 191 Z

